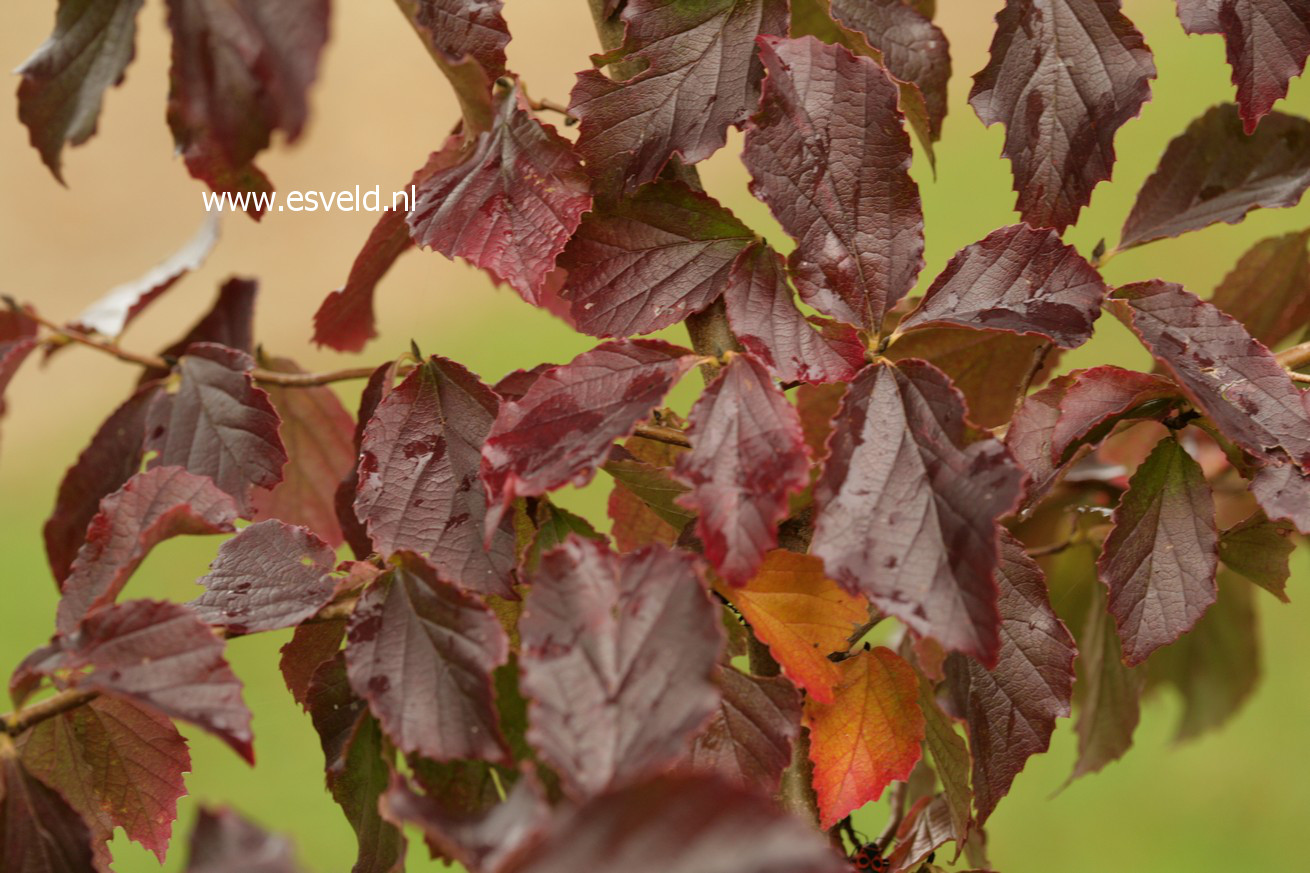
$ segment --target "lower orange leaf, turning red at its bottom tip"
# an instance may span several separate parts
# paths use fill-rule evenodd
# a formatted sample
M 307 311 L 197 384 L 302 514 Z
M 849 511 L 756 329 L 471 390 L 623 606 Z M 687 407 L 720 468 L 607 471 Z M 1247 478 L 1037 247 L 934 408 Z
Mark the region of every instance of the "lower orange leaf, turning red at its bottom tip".
M 837 665 L 836 701 L 806 700 L 810 760 L 827 830 L 852 810 L 882 797 L 893 780 L 909 777 L 924 755 L 918 678 L 900 655 L 878 648 Z

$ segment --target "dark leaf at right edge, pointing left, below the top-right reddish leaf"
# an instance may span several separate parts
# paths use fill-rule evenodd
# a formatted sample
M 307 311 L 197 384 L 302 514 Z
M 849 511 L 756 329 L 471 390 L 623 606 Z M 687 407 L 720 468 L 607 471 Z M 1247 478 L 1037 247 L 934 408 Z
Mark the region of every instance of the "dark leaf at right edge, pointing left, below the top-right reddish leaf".
M 1310 186 L 1310 121 L 1271 113 L 1247 136 L 1237 106 L 1212 106 L 1165 149 L 1124 223 L 1120 249 L 1256 208 L 1296 206 Z

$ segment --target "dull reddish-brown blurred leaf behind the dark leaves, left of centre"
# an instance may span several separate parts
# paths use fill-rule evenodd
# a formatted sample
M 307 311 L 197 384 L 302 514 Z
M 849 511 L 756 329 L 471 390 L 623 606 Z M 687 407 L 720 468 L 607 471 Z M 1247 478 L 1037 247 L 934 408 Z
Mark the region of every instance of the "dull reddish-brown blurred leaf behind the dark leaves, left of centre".
M 262 363 L 275 372 L 303 372 L 286 358 Z M 269 384 L 266 391 L 282 419 L 278 433 L 288 460 L 271 492 L 254 492 L 255 518 L 304 524 L 337 548 L 345 541 L 337 519 L 337 485 L 355 465 L 355 418 L 326 385 Z

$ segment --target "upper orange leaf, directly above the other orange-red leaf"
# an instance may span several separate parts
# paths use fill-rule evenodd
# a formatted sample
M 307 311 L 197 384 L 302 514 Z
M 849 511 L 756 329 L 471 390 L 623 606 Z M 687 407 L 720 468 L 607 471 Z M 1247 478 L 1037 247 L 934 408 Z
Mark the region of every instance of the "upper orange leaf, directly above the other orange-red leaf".
M 745 616 L 791 682 L 820 703 L 833 701 L 842 672 L 828 655 L 845 651 L 852 632 L 869 620 L 863 598 L 825 577 L 819 558 L 785 549 L 765 554 L 743 587 L 719 583 L 717 590 Z

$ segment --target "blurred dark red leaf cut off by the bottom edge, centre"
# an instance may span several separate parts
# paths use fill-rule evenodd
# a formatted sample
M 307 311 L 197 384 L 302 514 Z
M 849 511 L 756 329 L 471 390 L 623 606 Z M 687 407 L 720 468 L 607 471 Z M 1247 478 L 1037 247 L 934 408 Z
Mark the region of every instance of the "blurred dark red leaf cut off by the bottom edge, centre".
M 544 844 L 498 873 L 849 873 L 814 827 L 755 790 L 662 776 L 562 811 Z

